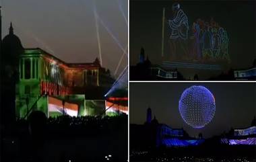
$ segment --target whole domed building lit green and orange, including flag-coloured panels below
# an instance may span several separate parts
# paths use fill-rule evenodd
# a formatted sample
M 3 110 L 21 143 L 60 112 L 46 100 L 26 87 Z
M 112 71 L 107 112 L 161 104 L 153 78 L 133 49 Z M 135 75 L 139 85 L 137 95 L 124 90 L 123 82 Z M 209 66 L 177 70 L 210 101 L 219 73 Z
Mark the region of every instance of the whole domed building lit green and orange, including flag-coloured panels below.
M 48 117 L 128 114 L 127 95 L 105 95 L 117 91 L 120 81 L 114 83 L 98 58 L 65 63 L 40 48 L 23 48 L 12 24 L 2 45 L 1 106 L 13 111 L 10 116 L 26 118 L 34 110 Z

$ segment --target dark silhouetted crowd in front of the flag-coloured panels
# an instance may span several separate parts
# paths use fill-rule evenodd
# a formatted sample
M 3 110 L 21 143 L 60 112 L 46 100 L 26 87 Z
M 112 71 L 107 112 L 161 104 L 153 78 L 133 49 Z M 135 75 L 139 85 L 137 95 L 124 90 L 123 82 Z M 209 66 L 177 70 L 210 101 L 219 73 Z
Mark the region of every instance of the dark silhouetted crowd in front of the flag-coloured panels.
M 128 116 L 33 112 L 3 131 L 5 161 L 126 161 Z

